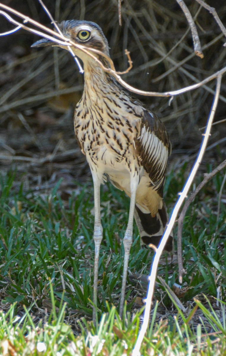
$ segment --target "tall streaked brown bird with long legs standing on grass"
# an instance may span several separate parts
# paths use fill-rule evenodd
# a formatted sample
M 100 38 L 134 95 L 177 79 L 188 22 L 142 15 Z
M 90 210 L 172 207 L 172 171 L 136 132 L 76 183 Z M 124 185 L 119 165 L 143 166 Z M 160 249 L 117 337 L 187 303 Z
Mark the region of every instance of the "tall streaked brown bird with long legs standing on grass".
M 163 200 L 171 143 L 164 124 L 142 101 L 123 88 L 111 72 L 109 46 L 96 23 L 84 20 L 62 21 L 62 34 L 81 48 L 72 47 L 83 62 L 84 90 L 75 107 L 75 136 L 89 164 L 94 186 L 94 281 L 93 320 L 97 318 L 97 284 L 100 245 L 103 228 L 100 213 L 100 186 L 108 179 L 130 198 L 129 218 L 125 230 L 124 265 L 119 315 L 124 308 L 125 288 L 130 247 L 133 241 L 133 219 L 138 226 L 141 245 L 158 247 L 164 233 L 168 214 Z M 32 47 L 67 46 L 47 38 Z M 89 49 L 98 50 L 89 56 Z M 103 53 L 103 56 L 100 54 Z M 96 58 L 103 64 L 101 66 Z M 173 235 L 165 245 L 173 248 Z

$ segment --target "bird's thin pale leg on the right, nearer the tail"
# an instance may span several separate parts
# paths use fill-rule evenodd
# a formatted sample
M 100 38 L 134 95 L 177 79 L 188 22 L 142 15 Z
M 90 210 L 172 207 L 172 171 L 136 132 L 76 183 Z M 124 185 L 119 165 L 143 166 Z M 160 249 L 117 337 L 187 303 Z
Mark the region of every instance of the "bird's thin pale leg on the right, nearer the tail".
M 126 279 L 127 279 L 127 269 L 129 263 L 129 251 L 133 242 L 133 216 L 136 202 L 136 192 L 137 186 L 139 184 L 139 175 L 135 172 L 133 175 L 130 174 L 130 206 L 129 206 L 129 220 L 127 229 L 125 231 L 125 236 L 123 239 L 124 245 L 124 265 L 123 265 L 123 278 L 122 278 L 122 291 L 120 298 L 120 306 L 119 306 L 119 315 L 122 317 L 124 299 L 125 299 L 125 287 L 126 287 Z

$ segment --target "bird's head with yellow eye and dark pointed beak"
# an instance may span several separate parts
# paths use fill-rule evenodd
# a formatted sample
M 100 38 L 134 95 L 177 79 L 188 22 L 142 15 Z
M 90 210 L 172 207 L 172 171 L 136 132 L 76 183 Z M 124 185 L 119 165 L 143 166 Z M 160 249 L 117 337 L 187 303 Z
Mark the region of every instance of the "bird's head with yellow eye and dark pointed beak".
M 88 48 L 98 49 L 107 56 L 109 56 L 108 41 L 103 34 L 101 28 L 94 22 L 82 21 L 82 20 L 68 20 L 62 21 L 59 25 L 63 35 L 78 45 L 82 45 Z M 42 38 L 39 41 L 33 43 L 31 47 L 46 47 L 46 46 L 58 46 L 64 49 L 68 49 L 67 46 L 58 45 L 56 42 L 52 42 L 46 38 Z M 75 55 L 82 59 L 83 63 L 88 59 L 88 55 L 81 49 L 71 47 Z M 95 55 L 95 53 L 92 52 Z M 99 56 L 98 56 L 99 57 Z M 89 57 L 90 58 L 90 57 Z

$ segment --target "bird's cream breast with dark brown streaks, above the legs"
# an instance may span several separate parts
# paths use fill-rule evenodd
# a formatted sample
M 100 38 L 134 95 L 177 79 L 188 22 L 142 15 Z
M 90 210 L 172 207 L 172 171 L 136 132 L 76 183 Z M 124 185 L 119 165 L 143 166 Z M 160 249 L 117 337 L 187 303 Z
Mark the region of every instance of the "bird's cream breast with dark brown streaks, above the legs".
M 134 138 L 138 135 L 140 117 L 107 99 L 92 105 L 77 105 L 75 133 L 88 162 L 117 169 L 122 162 L 134 159 Z M 106 170 L 105 170 L 106 171 Z

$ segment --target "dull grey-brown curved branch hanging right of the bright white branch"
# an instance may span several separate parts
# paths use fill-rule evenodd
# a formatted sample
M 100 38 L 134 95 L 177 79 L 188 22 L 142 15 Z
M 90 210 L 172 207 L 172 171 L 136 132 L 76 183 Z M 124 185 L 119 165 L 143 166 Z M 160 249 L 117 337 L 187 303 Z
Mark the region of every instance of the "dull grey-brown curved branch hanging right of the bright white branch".
M 204 179 L 202 182 L 197 186 L 197 188 L 190 194 L 190 197 L 186 201 L 186 203 L 183 206 L 183 209 L 181 210 L 180 217 L 178 219 L 178 267 L 179 267 L 179 282 L 182 283 L 182 276 L 185 273 L 184 268 L 183 268 L 183 261 L 182 261 L 182 229 L 183 229 L 183 222 L 184 222 L 184 217 L 186 214 L 186 211 L 189 208 L 189 205 L 191 204 L 192 200 L 196 197 L 196 195 L 200 192 L 200 190 L 204 187 L 204 185 L 209 182 L 210 179 L 212 179 L 216 173 L 220 172 L 221 169 L 226 167 L 226 159 L 224 162 L 219 164 L 211 173 L 206 173 L 204 174 Z

